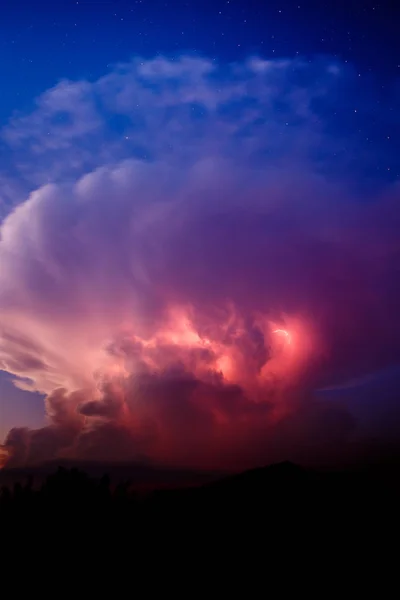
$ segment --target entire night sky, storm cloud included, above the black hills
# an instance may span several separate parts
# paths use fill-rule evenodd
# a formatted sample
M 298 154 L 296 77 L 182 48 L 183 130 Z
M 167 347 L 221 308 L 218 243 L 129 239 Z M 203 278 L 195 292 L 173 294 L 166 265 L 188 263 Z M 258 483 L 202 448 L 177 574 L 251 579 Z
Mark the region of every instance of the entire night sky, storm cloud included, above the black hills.
M 2 8 L 0 465 L 397 447 L 399 22 Z

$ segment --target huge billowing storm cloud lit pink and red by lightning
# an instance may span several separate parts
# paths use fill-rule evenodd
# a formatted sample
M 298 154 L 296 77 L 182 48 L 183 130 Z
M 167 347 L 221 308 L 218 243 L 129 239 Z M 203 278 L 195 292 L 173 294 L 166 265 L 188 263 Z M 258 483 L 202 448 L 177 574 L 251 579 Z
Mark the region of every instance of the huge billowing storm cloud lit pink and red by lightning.
M 346 444 L 353 419 L 313 391 L 398 361 L 400 291 L 398 189 L 363 201 L 330 132 L 343 77 L 134 60 L 13 118 L 36 189 L 1 225 L 0 367 L 46 394 L 49 425 L 12 430 L 9 464 Z

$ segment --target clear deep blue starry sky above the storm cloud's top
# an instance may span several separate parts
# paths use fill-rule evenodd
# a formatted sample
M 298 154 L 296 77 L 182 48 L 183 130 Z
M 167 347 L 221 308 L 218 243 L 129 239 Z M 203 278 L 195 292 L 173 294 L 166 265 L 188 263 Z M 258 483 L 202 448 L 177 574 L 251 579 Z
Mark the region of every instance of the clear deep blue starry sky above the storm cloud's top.
M 399 18 L 396 2 L 372 0 L 15 0 L 1 13 L 1 115 L 60 78 L 95 78 L 138 54 L 329 54 L 390 85 L 400 74 Z

